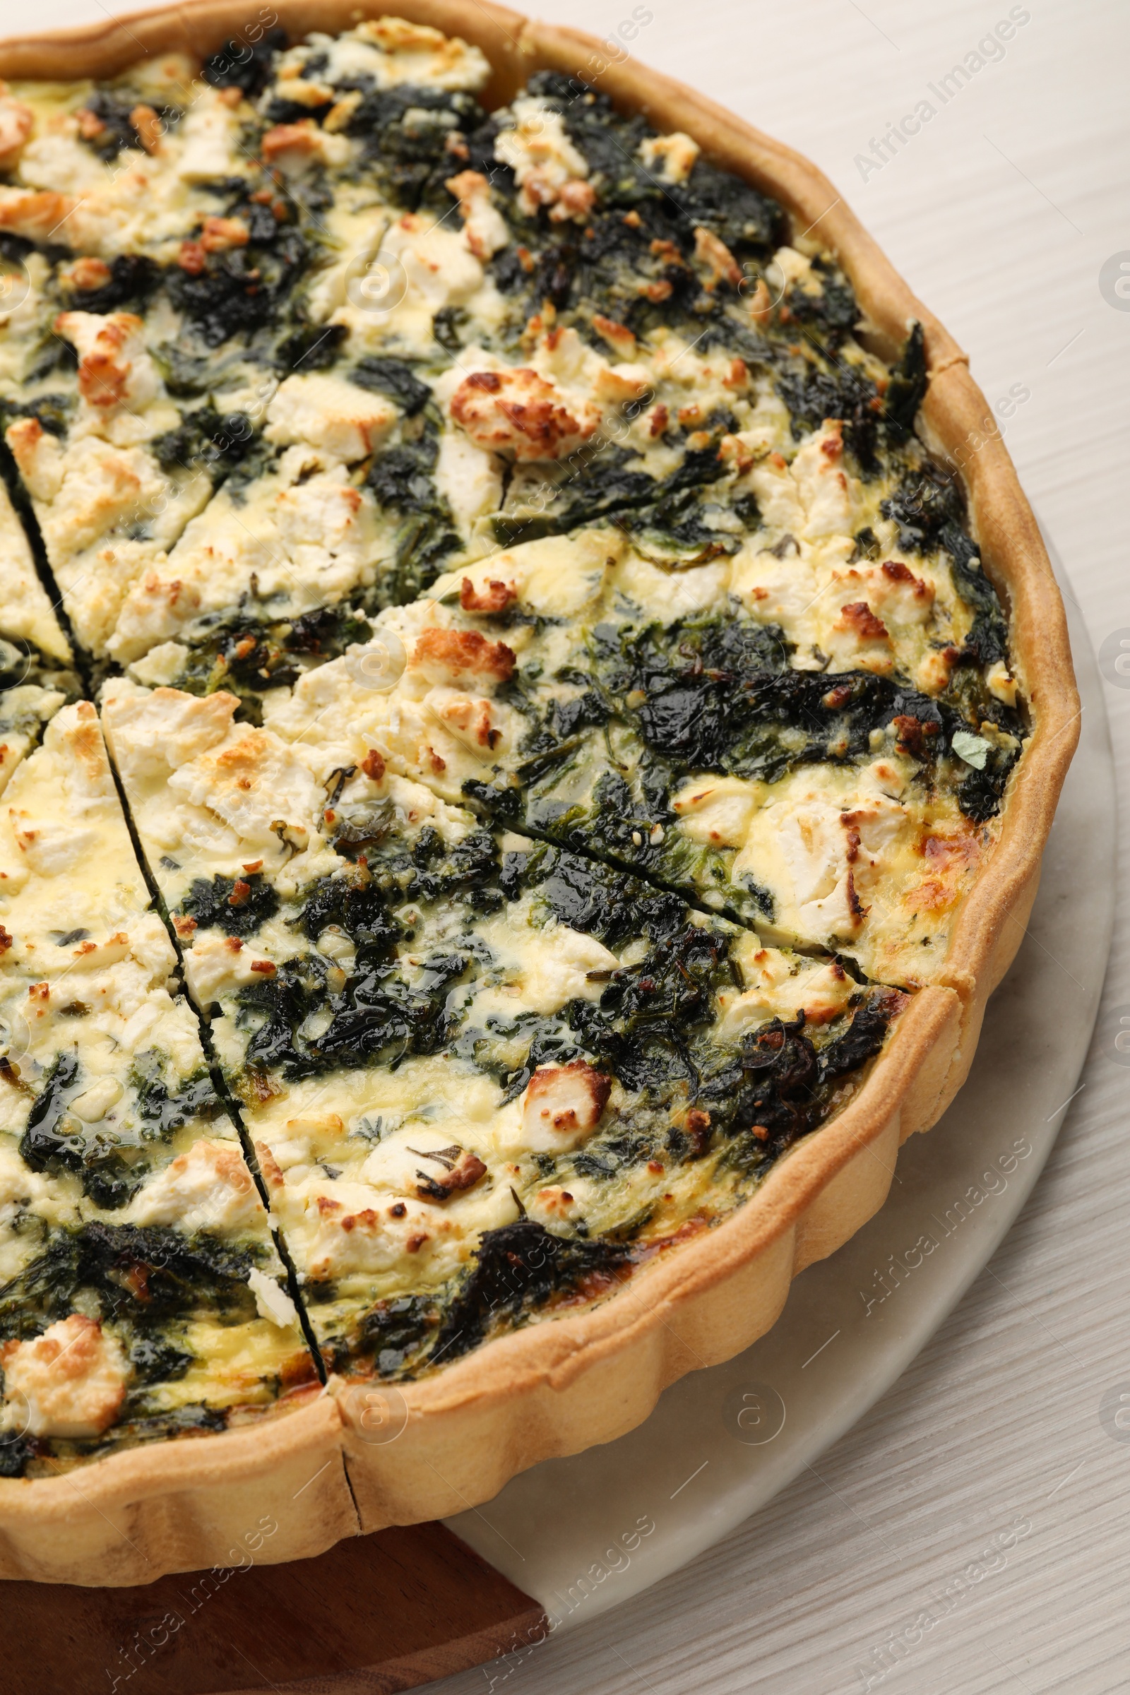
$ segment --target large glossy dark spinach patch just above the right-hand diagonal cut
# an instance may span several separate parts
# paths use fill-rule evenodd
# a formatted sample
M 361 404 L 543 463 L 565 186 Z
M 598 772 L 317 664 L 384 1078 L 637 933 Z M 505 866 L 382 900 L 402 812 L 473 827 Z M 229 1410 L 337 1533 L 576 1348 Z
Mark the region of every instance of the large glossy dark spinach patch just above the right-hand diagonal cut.
M 988 720 L 1013 742 L 986 749 L 984 770 L 962 778 L 957 802 L 974 822 L 1000 810 L 1023 727 L 979 668 L 957 666 L 932 698 L 900 678 L 798 671 L 788 658 L 779 629 L 739 615 L 596 624 L 557 675 L 566 698 L 546 700 L 522 675 L 503 686 L 529 731 L 512 770 L 468 780 L 464 795 L 490 817 L 579 853 L 710 888 L 725 880 L 717 854 L 671 831 L 671 797 L 688 778 L 718 771 L 774 783 L 803 764 L 866 761 L 874 732 L 891 731 L 930 788 L 954 734 Z M 752 883 L 749 897 L 751 914 L 773 915 Z

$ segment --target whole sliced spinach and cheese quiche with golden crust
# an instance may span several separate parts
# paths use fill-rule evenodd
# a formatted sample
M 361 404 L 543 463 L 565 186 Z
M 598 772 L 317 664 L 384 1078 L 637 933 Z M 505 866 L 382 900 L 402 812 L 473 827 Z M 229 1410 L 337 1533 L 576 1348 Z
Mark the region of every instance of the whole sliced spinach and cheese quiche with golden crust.
M 961 1085 L 1074 747 L 811 166 L 315 10 L 0 47 L 7 1576 L 446 1514 L 745 1348 Z

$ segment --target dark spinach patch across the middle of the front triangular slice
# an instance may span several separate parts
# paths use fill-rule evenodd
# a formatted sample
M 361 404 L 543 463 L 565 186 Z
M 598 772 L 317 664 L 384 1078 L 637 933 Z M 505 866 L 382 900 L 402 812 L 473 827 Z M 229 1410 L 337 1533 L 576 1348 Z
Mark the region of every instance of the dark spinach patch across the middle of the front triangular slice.
M 740 985 L 725 925 L 703 927 L 681 897 L 547 842 L 503 853 L 478 831 L 449 848 L 425 827 L 408 849 L 386 829 L 388 815 L 363 827 L 346 820 L 337 844 L 352 837 L 356 870 L 313 885 L 288 919 L 315 944 L 330 927 L 346 936 L 351 968 L 315 946 L 237 992 L 252 1073 L 278 1070 L 298 1080 L 447 1049 L 491 1075 L 512 1100 L 539 1064 L 586 1056 L 627 1090 L 671 1103 L 708 1070 L 700 1048 L 713 1051 L 713 997 Z M 473 995 L 452 990 L 473 988 L 493 970 L 479 920 L 525 895 L 534 897 L 534 929 L 554 920 L 607 948 L 647 948 L 642 963 L 610 975 L 598 1002 L 571 1000 L 547 1017 L 518 1014 L 508 1025 L 488 1019 L 483 1029 L 469 1022 Z M 230 922 L 224 897 L 215 910 Z

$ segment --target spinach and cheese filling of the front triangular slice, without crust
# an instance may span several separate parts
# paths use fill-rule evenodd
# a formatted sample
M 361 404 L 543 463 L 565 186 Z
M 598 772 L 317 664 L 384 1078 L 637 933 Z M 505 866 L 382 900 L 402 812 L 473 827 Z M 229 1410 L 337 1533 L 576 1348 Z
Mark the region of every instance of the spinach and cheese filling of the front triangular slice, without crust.
M 905 1002 L 483 829 L 341 717 L 288 746 L 235 705 L 114 681 L 103 712 L 335 1370 L 452 1358 L 708 1227 Z M 496 1312 L 515 1231 L 561 1258 Z

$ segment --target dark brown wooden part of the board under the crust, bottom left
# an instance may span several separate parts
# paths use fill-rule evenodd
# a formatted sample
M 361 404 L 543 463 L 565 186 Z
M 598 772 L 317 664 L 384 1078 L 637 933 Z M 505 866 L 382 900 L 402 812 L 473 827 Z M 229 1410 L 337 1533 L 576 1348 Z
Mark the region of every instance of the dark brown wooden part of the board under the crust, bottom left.
M 3 1695 L 386 1695 L 537 1634 L 537 1602 L 440 1524 L 142 1588 L 0 1587 Z

